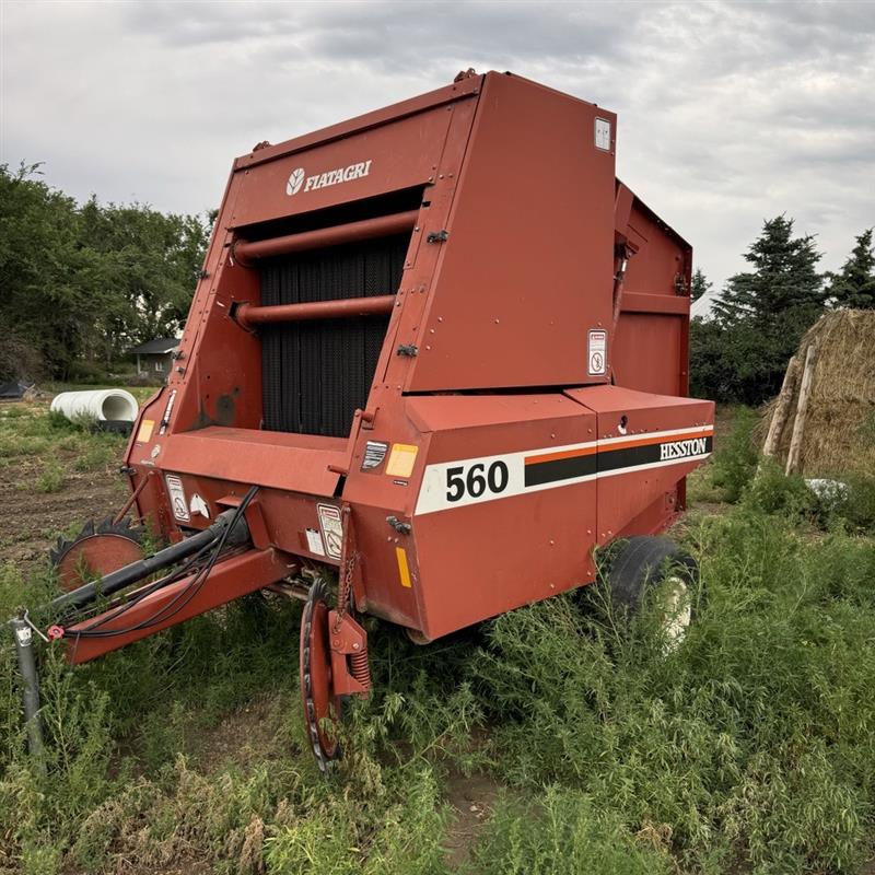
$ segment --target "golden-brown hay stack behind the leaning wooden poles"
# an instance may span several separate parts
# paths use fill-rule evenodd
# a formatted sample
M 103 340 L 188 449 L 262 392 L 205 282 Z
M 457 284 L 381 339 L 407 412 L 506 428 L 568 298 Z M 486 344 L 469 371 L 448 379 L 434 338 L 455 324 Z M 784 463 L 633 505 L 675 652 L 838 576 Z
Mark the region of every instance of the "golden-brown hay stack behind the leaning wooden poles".
M 828 313 L 800 343 L 797 361 L 817 345 L 808 415 L 802 439 L 801 470 L 829 476 L 847 471 L 875 472 L 875 312 Z M 777 444 L 785 460 L 796 418 L 800 387 Z M 774 409 L 770 405 L 759 431 L 765 436 Z

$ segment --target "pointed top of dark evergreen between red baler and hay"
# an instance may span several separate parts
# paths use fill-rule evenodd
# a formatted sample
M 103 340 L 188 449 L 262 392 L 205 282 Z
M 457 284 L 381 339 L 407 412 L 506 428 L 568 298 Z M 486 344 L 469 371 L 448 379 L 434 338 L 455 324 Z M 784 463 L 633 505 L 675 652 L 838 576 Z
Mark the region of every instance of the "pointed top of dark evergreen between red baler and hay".
M 714 302 L 724 324 L 745 319 L 770 323 L 777 314 L 795 311 L 810 320 L 824 306 L 824 278 L 817 272 L 821 255 L 814 237 L 793 236 L 793 220 L 778 215 L 745 253 L 752 270 L 731 277 Z

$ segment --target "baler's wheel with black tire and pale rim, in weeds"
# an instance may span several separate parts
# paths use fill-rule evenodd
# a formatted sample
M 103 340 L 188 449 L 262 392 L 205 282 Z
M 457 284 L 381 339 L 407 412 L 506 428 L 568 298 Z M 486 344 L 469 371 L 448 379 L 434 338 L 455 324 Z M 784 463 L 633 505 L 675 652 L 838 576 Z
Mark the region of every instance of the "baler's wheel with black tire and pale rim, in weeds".
M 664 614 L 664 649 L 676 650 L 695 619 L 699 563 L 670 538 L 637 535 L 609 548 L 606 580 L 614 608 L 631 618 L 648 598 Z

